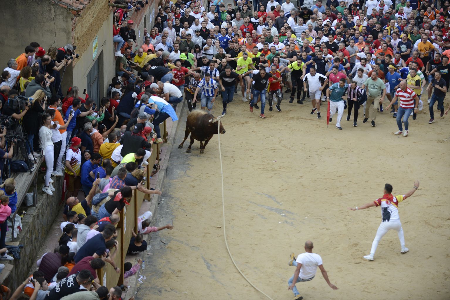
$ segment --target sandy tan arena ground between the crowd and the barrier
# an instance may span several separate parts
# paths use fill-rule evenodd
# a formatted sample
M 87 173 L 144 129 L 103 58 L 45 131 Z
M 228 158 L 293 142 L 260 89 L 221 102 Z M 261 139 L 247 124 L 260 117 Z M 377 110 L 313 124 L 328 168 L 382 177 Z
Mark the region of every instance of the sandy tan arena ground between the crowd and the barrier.
M 329 288 L 318 270 L 311 282 L 297 283 L 304 299 L 449 299 L 450 116 L 437 112 L 428 124 L 425 106 L 416 120 L 410 118 L 410 135 L 398 137 L 386 110 L 375 128 L 370 120 L 362 123 L 362 113 L 354 128 L 345 112 L 340 131 L 337 115 L 326 126 L 326 102 L 321 120 L 310 115 L 308 101 L 289 104 L 285 97 L 281 109 L 270 112 L 267 103 L 267 118 L 260 119 L 238 93 L 222 119 L 226 229 L 243 273 L 274 300 L 292 299 L 288 257 L 304 252 L 311 240 L 339 289 Z M 221 111 L 218 97 L 213 112 Z M 177 149 L 185 116 L 180 122 L 156 222 L 173 221 L 175 229 L 153 235 L 147 279 L 136 298 L 266 299 L 238 274 L 225 248 L 217 136 L 205 154 L 199 154 L 198 141 L 187 154 L 189 139 Z M 415 179 L 419 190 L 399 207 L 410 252 L 400 253 L 397 233 L 390 231 L 375 260 L 364 260 L 380 208 L 347 207 L 381 197 L 386 182 L 393 194 L 404 194 Z

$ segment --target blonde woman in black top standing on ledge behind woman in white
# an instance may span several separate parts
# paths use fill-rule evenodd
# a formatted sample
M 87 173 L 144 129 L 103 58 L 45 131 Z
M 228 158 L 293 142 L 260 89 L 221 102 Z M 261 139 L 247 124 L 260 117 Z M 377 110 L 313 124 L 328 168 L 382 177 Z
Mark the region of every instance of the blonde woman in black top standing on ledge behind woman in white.
M 45 96 L 44 91 L 39 90 L 36 91 L 32 96 L 33 101 L 31 101 L 31 105 L 27 111 L 27 113 L 23 116 L 22 119 L 22 125 L 23 129 L 25 129 L 29 142 L 25 143 L 25 147 L 27 147 L 28 156 L 31 160 L 33 160 L 33 140 L 34 137 L 37 135 L 37 130 L 40 127 L 40 118 L 39 115 L 44 113 L 45 109 L 45 101 L 47 100 L 47 96 Z M 42 149 L 44 151 L 44 149 Z M 40 154 L 34 152 L 34 157 L 38 157 Z

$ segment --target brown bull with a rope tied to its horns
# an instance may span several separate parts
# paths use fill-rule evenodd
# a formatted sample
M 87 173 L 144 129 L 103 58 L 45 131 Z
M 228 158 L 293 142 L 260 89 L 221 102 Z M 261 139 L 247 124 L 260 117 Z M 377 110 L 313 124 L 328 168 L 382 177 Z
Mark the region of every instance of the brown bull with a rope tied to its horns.
M 206 113 L 203 110 L 193 110 L 188 115 L 186 120 L 186 131 L 184 132 L 184 140 L 181 142 L 178 148 L 183 148 L 184 141 L 187 140 L 189 133 L 191 134 L 191 142 L 189 144 L 186 153 L 191 152 L 191 146 L 194 140 L 200 141 L 200 153 L 205 152 L 205 147 L 211 140 L 214 134 L 217 134 L 217 127 L 219 119 L 225 115 L 220 115 L 220 117 L 215 118 L 213 115 Z M 224 134 L 225 129 L 220 122 L 220 133 Z M 203 143 L 204 142 L 204 143 Z

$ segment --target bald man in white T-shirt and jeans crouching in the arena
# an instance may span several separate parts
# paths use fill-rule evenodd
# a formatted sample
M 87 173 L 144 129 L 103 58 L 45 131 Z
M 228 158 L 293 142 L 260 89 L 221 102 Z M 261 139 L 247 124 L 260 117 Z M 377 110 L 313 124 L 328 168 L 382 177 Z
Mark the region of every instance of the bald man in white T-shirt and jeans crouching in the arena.
M 333 290 L 337 290 L 338 288 L 332 284 L 328 279 L 327 271 L 324 269 L 324 265 L 322 264 L 322 258 L 319 254 L 312 253 L 312 248 L 314 248 L 311 241 L 306 241 L 305 243 L 305 253 L 299 254 L 297 259 L 294 257 L 294 253 L 291 254 L 291 259 L 289 260 L 289 265 L 296 266 L 294 276 L 291 277 L 288 281 L 289 290 L 292 290 L 295 297 L 294 300 L 302 300 L 303 297 L 300 296 L 300 293 L 295 287 L 297 282 L 310 281 L 315 277 L 315 272 L 317 271 L 317 267 L 319 267 L 322 272 L 322 276 L 325 281 L 328 283 L 329 287 Z M 297 278 L 296 282 L 294 282 L 294 278 Z

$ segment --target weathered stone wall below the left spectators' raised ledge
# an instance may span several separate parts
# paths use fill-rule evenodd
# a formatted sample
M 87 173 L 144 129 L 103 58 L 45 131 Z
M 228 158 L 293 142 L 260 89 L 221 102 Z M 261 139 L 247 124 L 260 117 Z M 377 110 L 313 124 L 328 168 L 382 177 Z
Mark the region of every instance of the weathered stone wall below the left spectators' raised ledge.
M 42 175 L 37 176 L 39 179 L 42 177 Z M 14 242 L 19 242 L 24 247 L 20 251 L 20 260 L 7 261 L 7 263 L 14 265 L 14 268 L 9 277 L 2 283 L 9 287 L 12 292 L 29 275 L 28 272 L 32 267 L 33 260 L 45 241 L 45 237 L 56 217 L 61 212 L 62 205 L 59 203 L 61 202 L 63 176 L 54 177 L 53 180 L 55 188 L 53 196 L 42 192 L 43 182 L 39 181 L 37 205 L 36 207 L 28 208 L 27 214 L 22 219 L 22 231 L 14 240 Z M 8 234 L 10 234 L 10 231 Z

